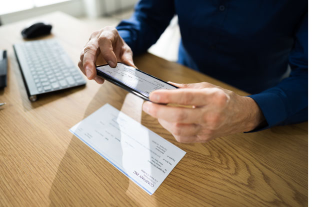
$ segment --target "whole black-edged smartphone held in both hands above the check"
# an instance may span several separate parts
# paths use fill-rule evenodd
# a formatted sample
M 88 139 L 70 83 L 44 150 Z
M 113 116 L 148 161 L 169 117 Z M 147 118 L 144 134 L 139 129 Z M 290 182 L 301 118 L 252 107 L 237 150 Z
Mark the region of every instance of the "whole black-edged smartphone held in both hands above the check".
M 157 77 L 121 62 L 118 62 L 114 68 L 110 67 L 108 64 L 96 66 L 96 74 L 148 101 L 150 101 L 149 94 L 153 90 L 178 88 Z

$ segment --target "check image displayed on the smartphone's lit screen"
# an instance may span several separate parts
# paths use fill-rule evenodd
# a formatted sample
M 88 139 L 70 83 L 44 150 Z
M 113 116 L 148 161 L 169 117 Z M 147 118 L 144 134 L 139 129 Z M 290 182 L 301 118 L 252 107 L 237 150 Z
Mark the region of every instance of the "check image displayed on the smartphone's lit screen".
M 136 89 L 146 97 L 156 89 L 176 89 L 176 87 L 164 81 L 122 63 L 117 63 L 115 68 L 109 65 L 101 65 L 98 66 L 97 69 L 123 84 Z

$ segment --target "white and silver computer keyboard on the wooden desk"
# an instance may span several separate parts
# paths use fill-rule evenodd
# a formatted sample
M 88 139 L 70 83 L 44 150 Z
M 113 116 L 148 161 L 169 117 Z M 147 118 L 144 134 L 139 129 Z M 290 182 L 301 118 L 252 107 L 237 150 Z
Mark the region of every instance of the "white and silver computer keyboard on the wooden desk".
M 38 94 L 86 83 L 56 39 L 24 41 L 13 48 L 31 101 Z

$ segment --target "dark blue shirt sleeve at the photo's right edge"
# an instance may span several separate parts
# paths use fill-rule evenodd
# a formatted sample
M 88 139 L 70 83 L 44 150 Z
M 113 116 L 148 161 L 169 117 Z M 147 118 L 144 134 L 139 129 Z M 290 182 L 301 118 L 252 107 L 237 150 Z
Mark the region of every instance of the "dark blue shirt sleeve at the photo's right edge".
M 276 86 L 249 95 L 259 105 L 267 126 L 290 124 L 308 119 L 308 15 L 303 15 L 289 54 L 291 73 Z

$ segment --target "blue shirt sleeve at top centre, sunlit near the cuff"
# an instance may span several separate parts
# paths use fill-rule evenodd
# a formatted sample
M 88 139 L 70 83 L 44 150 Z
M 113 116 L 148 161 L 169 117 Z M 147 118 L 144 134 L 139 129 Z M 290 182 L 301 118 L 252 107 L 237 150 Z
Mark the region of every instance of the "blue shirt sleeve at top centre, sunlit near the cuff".
M 133 54 L 139 54 L 156 42 L 173 15 L 173 0 L 139 0 L 131 18 L 122 20 L 116 29 Z

